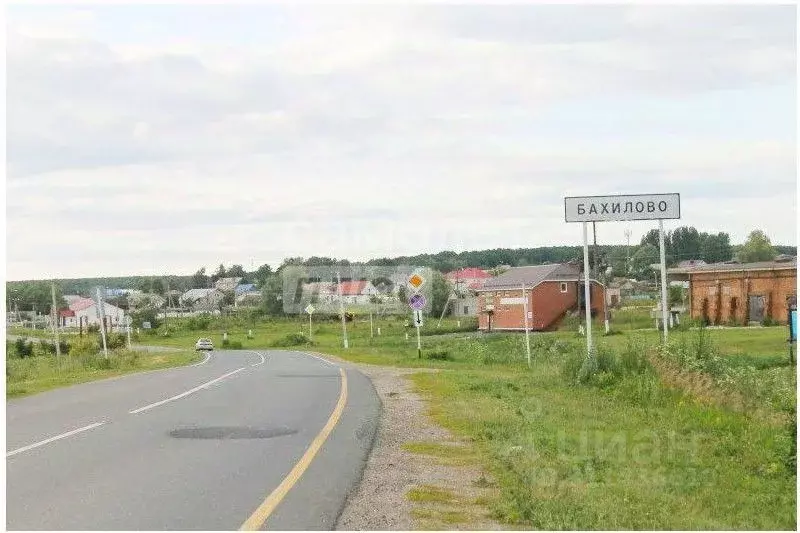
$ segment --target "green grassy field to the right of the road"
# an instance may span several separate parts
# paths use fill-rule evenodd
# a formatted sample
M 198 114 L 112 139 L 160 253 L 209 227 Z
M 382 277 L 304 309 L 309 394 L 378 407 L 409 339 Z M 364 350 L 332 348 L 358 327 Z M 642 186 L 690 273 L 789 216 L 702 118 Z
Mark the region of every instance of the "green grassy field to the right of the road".
M 404 323 L 376 319 L 371 336 L 357 317 L 348 350 L 335 320 L 316 321 L 313 344 L 302 344 L 307 316 L 191 331 L 172 321 L 168 336 L 138 342 L 190 349 L 210 337 L 221 348 L 227 331 L 245 349 L 292 349 L 293 338 L 296 349 L 354 362 L 438 368 L 413 382 L 434 420 L 468 443 L 451 464 L 467 453 L 493 474 L 498 496 L 486 505 L 509 527 L 796 528 L 796 367 L 785 327 L 671 331 L 666 351 L 655 330 L 601 335 L 593 367 L 577 333 L 534 334 L 529 369 L 522 334 L 435 335 L 428 320 L 419 358 Z M 451 319 L 438 331 L 453 329 Z

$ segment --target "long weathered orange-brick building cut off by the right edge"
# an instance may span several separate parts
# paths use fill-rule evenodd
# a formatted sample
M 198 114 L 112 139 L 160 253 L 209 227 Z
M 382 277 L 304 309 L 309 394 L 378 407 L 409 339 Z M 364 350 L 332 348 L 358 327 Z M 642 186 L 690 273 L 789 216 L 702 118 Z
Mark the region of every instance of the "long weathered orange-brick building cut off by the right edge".
M 766 319 L 786 324 L 787 298 L 797 298 L 797 258 L 759 263 L 715 263 L 667 270 L 689 281 L 689 313 L 714 325 Z

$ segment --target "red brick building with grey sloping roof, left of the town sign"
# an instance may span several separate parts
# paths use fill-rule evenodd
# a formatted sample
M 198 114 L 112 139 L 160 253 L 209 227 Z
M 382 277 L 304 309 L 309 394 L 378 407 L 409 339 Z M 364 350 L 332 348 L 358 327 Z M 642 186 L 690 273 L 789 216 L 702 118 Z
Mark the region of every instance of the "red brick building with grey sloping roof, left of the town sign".
M 479 329 L 525 329 L 523 283 L 531 330 L 553 329 L 568 312 L 584 309 L 583 279 L 577 267 L 567 264 L 517 267 L 486 280 L 477 290 Z M 591 280 L 592 316 L 602 313 L 604 299 L 603 285 Z

